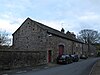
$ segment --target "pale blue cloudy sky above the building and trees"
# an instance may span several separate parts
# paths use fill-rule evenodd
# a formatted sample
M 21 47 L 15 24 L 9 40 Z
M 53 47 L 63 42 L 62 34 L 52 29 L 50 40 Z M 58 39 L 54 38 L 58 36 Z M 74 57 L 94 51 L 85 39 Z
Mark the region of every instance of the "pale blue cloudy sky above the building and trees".
M 76 34 L 100 32 L 100 0 L 0 0 L 0 29 L 12 34 L 27 17 Z

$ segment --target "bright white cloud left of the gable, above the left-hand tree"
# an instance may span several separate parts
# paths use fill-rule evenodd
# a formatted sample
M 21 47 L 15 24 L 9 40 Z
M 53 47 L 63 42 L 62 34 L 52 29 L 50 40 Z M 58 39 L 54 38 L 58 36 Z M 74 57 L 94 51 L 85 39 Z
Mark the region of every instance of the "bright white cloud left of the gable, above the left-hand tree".
M 12 34 L 24 21 L 23 18 L 17 18 L 12 13 L 0 14 L 0 29 Z

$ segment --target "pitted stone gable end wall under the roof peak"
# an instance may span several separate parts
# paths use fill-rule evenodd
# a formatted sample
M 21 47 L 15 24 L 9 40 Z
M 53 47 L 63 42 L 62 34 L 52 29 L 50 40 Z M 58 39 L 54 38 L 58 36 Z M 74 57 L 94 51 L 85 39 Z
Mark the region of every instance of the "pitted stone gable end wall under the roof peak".
M 46 51 L 45 37 L 46 30 L 27 20 L 13 34 L 13 47 L 25 51 Z

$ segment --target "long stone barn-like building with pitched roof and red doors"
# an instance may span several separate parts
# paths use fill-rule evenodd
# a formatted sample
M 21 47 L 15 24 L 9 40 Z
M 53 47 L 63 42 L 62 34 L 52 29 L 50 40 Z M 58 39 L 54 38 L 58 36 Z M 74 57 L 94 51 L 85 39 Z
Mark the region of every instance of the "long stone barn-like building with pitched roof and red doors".
M 74 33 L 65 33 L 63 28 L 55 30 L 30 18 L 13 33 L 13 47 L 19 51 L 43 51 L 47 63 L 56 62 L 61 54 L 88 54 L 88 45 L 78 41 Z

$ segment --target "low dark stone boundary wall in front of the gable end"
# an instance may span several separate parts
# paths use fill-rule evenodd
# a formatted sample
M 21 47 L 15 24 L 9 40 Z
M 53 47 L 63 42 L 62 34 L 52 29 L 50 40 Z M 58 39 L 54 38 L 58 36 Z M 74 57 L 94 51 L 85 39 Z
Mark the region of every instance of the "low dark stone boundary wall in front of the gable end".
M 46 64 L 46 51 L 0 51 L 0 71 Z

